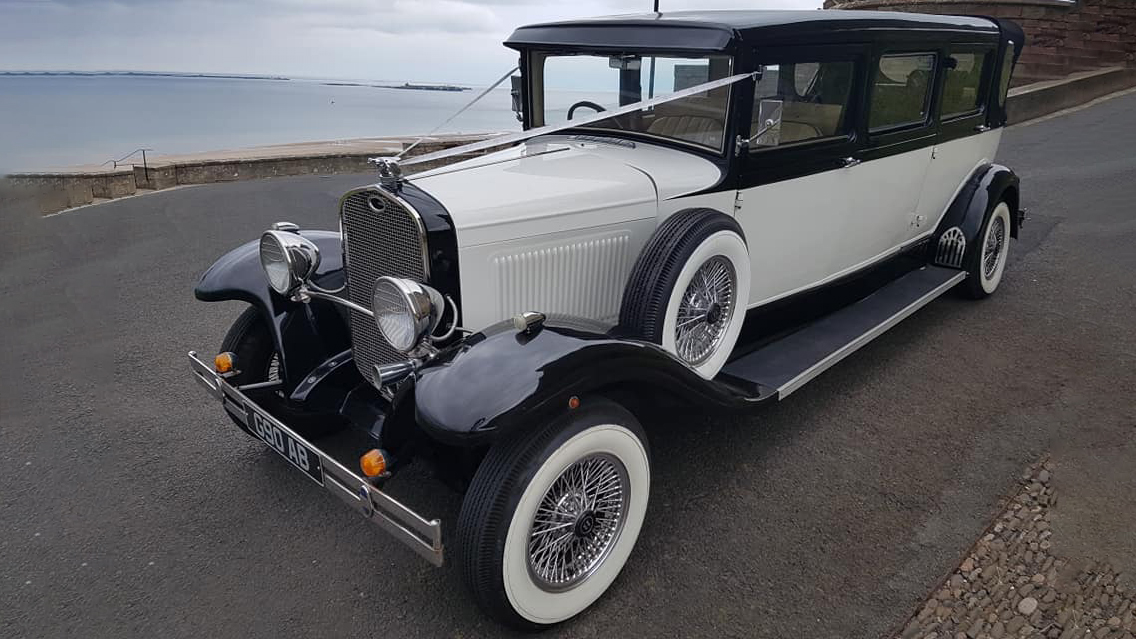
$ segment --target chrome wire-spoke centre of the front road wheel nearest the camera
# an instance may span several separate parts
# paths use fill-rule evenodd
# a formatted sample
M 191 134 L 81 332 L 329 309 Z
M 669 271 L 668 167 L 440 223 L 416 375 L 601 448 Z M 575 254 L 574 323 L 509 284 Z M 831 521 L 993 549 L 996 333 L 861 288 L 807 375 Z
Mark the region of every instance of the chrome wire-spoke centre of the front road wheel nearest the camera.
M 630 482 L 611 455 L 565 468 L 536 507 L 528 536 L 528 572 L 543 590 L 568 590 L 587 579 L 624 528 Z

